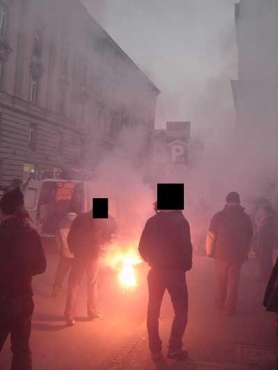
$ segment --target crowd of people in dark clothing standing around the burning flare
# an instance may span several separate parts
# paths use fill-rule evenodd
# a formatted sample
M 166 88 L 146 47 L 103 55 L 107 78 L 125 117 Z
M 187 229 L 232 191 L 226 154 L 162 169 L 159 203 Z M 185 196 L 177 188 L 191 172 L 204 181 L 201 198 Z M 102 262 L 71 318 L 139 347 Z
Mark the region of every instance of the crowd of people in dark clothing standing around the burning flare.
M 0 351 L 10 334 L 12 370 L 31 370 L 29 339 L 34 309 L 31 281 L 34 275 L 45 271 L 47 261 L 40 236 L 30 226 L 19 187 L 3 194 L 0 210 Z M 186 271 L 193 266 L 190 226 L 182 210 L 158 210 L 157 203 L 154 210 L 156 214 L 147 220 L 138 245 L 138 252 L 150 267 L 147 277 L 149 349 L 154 360 L 163 356 L 158 319 L 167 290 L 174 308 L 167 357 L 185 360 L 188 353 L 183 349 L 182 338 L 188 322 Z M 76 294 L 85 273 L 88 318 L 100 317 L 97 310 L 99 255 L 115 232 L 113 217 L 93 219 L 92 210 L 79 214 L 70 210 L 58 223 L 56 244 L 60 258 L 52 295 L 59 294 L 70 271 L 65 304 L 68 326 L 74 325 Z M 240 271 L 252 250 L 260 261 L 259 282 L 268 282 L 265 308 L 278 312 L 278 262 L 272 270 L 276 242 L 277 222 L 270 203 L 265 199 L 259 202 L 253 223 L 240 205 L 239 194 L 229 193 L 224 209 L 212 217 L 204 241 L 206 255 L 215 260 L 215 305 L 227 315 L 236 314 Z

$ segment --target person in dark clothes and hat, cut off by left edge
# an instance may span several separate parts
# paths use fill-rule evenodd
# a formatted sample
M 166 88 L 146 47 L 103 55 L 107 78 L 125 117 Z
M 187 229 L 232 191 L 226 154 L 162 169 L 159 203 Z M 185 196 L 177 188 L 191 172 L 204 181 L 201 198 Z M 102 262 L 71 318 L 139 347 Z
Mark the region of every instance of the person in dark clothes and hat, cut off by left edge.
M 8 335 L 12 370 L 31 370 L 32 277 L 46 269 L 40 236 L 28 224 L 19 188 L 1 198 L 0 224 L 0 351 Z

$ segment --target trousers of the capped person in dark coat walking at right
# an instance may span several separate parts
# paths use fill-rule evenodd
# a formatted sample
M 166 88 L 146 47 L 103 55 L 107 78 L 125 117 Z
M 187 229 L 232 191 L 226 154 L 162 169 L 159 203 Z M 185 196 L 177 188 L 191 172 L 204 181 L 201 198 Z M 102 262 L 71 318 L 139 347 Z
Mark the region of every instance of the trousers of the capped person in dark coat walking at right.
M 234 312 L 238 301 L 238 287 L 242 262 L 215 260 L 215 303 Z

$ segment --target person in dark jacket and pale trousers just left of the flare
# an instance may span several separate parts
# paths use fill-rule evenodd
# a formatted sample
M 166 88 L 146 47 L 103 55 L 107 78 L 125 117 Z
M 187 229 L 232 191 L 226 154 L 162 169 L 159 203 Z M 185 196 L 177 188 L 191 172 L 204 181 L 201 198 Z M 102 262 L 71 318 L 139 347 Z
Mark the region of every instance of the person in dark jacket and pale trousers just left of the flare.
M 115 219 L 92 219 L 90 212 L 78 215 L 72 223 L 67 244 L 74 255 L 72 270 L 67 284 L 65 318 L 68 326 L 74 325 L 77 291 L 86 271 L 88 276 L 87 312 L 90 320 L 101 315 L 97 312 L 97 285 L 99 280 L 99 256 L 101 247 L 111 242 L 115 233 Z

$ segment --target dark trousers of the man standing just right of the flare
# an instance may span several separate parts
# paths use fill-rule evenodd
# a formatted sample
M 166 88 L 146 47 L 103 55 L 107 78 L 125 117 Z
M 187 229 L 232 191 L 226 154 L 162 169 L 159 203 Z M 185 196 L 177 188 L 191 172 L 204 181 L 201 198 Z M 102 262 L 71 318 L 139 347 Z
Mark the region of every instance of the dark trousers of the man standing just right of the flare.
M 174 321 L 168 346 L 169 352 L 179 351 L 182 348 L 182 337 L 188 321 L 188 291 L 186 274 L 173 269 L 151 269 L 148 275 L 149 303 L 147 308 L 147 330 L 149 333 L 149 349 L 152 353 L 159 353 L 162 349 L 161 338 L 158 333 L 158 319 L 165 290 L 170 294 L 174 308 Z

